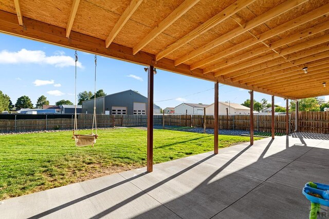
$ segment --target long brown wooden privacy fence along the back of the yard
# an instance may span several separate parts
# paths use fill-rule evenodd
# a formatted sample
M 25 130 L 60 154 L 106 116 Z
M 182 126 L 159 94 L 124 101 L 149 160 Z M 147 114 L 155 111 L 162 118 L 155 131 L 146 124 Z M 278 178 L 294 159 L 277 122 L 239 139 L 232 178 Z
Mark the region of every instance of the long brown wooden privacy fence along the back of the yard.
M 299 112 L 299 131 L 329 133 L 328 112 Z M 14 115 L 12 115 L 14 116 Z M 25 115 L 24 119 L 0 119 L 0 132 L 24 132 L 36 130 L 73 129 L 74 115 L 56 118 L 54 115 Z M 51 117 L 51 118 L 49 118 Z M 54 118 L 55 117 L 55 118 Z M 289 114 L 289 130 L 295 128 L 295 112 Z M 220 129 L 249 130 L 250 115 L 219 115 Z M 162 125 L 162 115 L 154 115 L 154 125 Z M 78 128 L 89 129 L 93 125 L 92 114 L 78 116 Z M 97 115 L 97 127 L 134 127 L 147 126 L 147 115 Z M 165 126 L 204 127 L 203 115 L 165 115 Z M 214 128 L 214 116 L 206 115 L 206 128 Z M 285 133 L 286 116 L 275 115 L 275 132 Z M 271 115 L 254 115 L 254 131 L 270 132 Z

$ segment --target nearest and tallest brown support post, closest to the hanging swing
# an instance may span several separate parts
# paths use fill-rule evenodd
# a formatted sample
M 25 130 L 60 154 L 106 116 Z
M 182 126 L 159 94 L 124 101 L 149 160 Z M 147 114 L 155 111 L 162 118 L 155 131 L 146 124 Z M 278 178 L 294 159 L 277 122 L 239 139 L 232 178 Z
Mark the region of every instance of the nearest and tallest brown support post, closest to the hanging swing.
M 148 166 L 147 171 L 153 171 L 153 87 L 154 67 L 148 70 Z

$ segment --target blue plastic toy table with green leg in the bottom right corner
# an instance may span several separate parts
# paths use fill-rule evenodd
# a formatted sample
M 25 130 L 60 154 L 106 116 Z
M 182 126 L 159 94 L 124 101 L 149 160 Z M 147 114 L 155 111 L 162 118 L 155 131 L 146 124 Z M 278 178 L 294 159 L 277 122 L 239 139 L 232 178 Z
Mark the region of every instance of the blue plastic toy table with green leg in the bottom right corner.
M 320 205 L 329 206 L 329 185 L 308 182 L 303 194 L 310 201 L 309 219 L 316 219 Z

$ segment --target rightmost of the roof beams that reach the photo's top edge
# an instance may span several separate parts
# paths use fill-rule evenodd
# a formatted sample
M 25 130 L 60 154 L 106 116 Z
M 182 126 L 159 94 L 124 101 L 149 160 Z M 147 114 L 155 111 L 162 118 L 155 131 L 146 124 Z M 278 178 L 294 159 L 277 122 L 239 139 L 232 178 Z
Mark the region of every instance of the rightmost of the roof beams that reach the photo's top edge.
M 272 19 L 273 17 L 279 16 L 280 14 L 291 10 L 292 8 L 295 8 L 301 4 L 303 4 L 304 2 L 306 2 L 307 0 L 288 0 L 283 2 L 282 4 L 278 5 L 275 8 L 272 8 L 268 11 L 266 11 L 265 13 L 259 15 L 258 17 L 253 18 L 251 21 L 247 22 L 245 24 L 245 29 L 242 29 L 240 26 L 233 29 L 232 31 L 223 34 L 222 36 L 214 39 L 213 41 L 205 44 L 202 47 L 199 47 L 196 50 L 193 50 L 192 52 L 190 52 L 189 54 L 186 54 L 178 59 L 176 59 L 175 61 L 175 66 L 184 63 L 188 60 L 190 60 L 191 58 L 203 54 L 205 52 L 207 52 L 210 49 L 213 49 L 227 41 L 229 41 L 230 39 L 243 34 L 245 32 L 247 32 L 248 30 L 251 30 L 267 21 L 269 21 L 270 19 Z

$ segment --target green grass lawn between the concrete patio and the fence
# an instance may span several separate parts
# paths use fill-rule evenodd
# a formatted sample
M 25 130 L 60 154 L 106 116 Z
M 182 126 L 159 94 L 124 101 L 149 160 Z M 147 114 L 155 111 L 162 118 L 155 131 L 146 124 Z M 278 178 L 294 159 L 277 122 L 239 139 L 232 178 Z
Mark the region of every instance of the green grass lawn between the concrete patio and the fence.
M 107 129 L 98 134 L 94 148 L 75 147 L 72 132 L 0 136 L 0 200 L 146 165 L 145 130 Z M 221 148 L 249 141 L 242 136 L 219 138 Z M 213 135 L 154 130 L 154 163 L 211 150 Z

